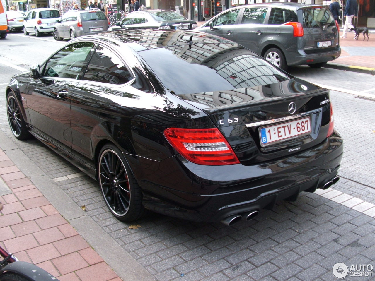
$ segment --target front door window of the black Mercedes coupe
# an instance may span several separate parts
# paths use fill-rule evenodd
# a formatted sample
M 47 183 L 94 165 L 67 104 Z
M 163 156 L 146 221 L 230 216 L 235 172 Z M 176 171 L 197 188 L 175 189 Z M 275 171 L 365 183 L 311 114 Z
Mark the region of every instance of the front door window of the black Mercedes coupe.
M 47 61 L 43 76 L 80 79 L 94 45 L 78 42 L 61 49 Z

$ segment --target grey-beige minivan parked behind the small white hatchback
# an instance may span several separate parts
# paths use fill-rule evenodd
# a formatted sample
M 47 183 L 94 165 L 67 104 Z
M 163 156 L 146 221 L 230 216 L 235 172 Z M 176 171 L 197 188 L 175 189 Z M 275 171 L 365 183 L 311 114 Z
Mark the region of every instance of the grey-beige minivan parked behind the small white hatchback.
M 108 29 L 108 18 L 99 9 L 70 10 L 58 19 L 53 31 L 55 40 L 105 32 Z

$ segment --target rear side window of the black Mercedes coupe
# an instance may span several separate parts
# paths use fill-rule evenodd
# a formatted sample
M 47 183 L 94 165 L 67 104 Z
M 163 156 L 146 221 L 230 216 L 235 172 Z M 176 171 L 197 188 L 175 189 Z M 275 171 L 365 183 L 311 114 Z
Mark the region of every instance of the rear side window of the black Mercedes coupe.
M 83 80 L 108 84 L 125 84 L 133 76 L 120 58 L 106 46 L 96 48 Z

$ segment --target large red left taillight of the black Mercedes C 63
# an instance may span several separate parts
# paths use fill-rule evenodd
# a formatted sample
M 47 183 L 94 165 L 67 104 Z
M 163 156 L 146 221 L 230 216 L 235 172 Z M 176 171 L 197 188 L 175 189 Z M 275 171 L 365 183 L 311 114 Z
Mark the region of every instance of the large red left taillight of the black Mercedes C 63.
M 218 129 L 169 128 L 168 142 L 187 160 L 201 165 L 238 164 L 236 154 Z

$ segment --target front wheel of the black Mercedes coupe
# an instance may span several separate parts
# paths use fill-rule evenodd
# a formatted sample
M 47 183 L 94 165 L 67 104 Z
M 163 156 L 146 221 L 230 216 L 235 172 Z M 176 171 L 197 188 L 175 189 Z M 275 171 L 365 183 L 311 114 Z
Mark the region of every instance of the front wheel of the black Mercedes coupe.
M 27 130 L 20 106 L 13 93 L 10 93 L 7 97 L 6 109 L 10 130 L 13 135 L 19 140 L 29 139 L 31 135 Z

